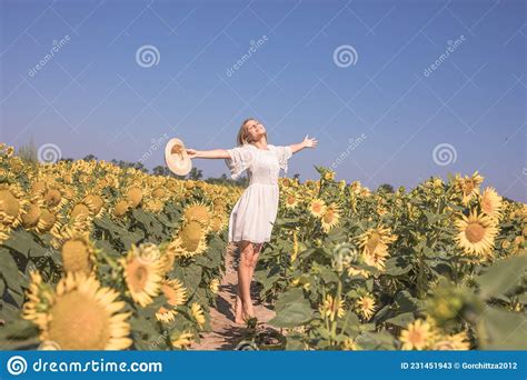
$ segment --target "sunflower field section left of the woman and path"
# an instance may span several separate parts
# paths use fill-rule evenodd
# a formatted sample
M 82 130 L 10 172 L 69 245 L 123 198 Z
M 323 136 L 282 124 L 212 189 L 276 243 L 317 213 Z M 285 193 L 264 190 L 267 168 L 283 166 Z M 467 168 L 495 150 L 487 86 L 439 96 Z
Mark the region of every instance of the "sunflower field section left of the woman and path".
M 171 350 L 209 328 L 240 189 L 0 146 L 0 346 Z

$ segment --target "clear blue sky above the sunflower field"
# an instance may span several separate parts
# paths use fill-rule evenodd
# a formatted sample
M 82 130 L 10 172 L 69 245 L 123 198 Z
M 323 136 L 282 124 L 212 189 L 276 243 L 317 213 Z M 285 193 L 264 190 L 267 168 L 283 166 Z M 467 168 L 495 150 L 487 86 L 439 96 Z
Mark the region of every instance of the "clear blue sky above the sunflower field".
M 375 189 L 479 170 L 527 201 L 525 1 L 0 3 L 0 140 L 14 147 L 32 136 L 153 168 L 167 137 L 232 148 L 256 117 L 274 144 L 319 139 L 289 176 L 332 166 Z

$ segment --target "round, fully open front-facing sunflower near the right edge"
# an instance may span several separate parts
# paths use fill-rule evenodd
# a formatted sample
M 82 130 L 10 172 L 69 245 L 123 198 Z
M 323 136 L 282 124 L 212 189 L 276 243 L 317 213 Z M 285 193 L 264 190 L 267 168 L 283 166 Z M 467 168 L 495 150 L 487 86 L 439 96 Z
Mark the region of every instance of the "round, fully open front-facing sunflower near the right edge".
M 456 221 L 456 227 L 458 234 L 455 240 L 466 254 L 491 254 L 494 240 L 499 232 L 493 219 L 473 210 L 468 218 L 461 214 L 461 219 Z

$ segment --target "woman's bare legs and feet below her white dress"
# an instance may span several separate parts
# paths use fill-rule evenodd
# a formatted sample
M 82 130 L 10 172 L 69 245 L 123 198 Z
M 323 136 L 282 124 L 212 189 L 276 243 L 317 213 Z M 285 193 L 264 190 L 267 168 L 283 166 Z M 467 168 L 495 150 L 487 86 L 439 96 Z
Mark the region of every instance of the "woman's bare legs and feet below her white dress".
M 240 251 L 240 262 L 238 264 L 238 293 L 241 300 L 241 312 L 238 314 L 237 310 L 237 323 L 243 323 L 243 317 L 250 318 L 255 316 L 255 311 L 252 309 L 252 301 L 250 299 L 250 271 L 253 253 L 252 244 L 249 241 L 241 241 Z

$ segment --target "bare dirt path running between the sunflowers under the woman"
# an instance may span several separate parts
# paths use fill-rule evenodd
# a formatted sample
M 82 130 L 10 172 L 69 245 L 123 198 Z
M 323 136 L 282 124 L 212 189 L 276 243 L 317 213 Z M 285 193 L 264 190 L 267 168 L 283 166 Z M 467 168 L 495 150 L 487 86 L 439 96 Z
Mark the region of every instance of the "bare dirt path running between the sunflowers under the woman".
M 235 250 L 235 246 L 227 248 L 227 273 L 223 276 L 216 300 L 217 308 L 210 310 L 212 331 L 201 333 L 201 341 L 192 344 L 192 350 L 233 350 L 243 338 L 245 328 L 233 322 L 233 304 L 238 283 L 238 274 L 233 268 Z M 275 317 L 275 312 L 259 302 L 257 296 L 257 293 L 252 293 L 256 317 L 258 321 L 267 322 Z M 264 324 L 264 327 L 266 327 L 266 324 Z

